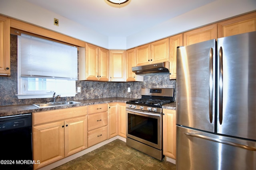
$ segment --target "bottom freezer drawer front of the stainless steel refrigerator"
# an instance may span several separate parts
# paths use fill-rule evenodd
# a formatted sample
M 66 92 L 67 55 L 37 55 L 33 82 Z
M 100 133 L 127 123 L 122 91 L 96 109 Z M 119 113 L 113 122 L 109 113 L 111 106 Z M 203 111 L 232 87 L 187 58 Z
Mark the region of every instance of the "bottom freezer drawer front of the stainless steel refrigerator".
M 177 126 L 176 170 L 256 170 L 256 142 Z

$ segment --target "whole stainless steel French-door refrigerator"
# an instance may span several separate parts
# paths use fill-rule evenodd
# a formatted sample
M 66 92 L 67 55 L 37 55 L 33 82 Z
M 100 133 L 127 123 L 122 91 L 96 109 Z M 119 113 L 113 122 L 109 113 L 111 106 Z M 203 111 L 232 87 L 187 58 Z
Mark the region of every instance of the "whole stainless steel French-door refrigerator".
M 177 49 L 177 170 L 256 170 L 256 31 Z

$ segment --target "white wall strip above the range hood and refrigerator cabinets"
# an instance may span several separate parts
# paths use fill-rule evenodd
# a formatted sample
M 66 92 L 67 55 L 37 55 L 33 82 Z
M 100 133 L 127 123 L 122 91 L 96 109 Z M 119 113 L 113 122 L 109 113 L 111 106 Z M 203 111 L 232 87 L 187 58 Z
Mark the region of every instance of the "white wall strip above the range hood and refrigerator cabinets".
M 126 49 L 256 10 L 256 0 L 216 0 L 127 37 Z

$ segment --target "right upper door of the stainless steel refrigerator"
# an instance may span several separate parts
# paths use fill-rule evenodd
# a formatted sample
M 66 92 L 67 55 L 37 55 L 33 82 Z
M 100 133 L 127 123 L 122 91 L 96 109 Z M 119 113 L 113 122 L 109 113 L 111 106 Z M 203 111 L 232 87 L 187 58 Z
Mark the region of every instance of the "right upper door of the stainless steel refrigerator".
M 217 133 L 256 140 L 256 31 L 218 39 Z

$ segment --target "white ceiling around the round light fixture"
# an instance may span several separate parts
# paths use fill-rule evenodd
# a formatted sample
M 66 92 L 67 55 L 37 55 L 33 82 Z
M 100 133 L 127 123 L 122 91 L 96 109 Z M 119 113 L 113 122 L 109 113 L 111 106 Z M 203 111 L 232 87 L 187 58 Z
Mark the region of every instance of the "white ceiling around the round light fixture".
M 127 37 L 215 0 L 26 0 L 108 37 Z M 61 24 L 61 21 L 60 21 Z

